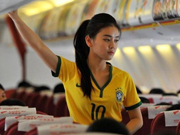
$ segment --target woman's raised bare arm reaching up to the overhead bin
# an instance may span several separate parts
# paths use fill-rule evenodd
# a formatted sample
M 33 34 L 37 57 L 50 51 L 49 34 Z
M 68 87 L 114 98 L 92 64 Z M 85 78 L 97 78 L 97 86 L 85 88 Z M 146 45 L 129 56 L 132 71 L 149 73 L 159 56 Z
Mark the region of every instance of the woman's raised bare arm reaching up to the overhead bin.
M 32 47 L 44 63 L 55 72 L 58 62 L 57 56 L 43 43 L 41 38 L 21 20 L 17 11 L 10 12 L 9 16 L 14 21 L 14 24 L 25 43 Z

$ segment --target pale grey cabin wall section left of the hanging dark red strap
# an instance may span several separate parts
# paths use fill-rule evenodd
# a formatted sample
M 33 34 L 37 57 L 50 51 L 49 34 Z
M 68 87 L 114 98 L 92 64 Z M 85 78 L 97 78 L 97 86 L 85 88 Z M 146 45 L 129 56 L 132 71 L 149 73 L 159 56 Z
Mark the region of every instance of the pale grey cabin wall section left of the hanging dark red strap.
M 14 88 L 21 80 L 21 62 L 14 46 L 0 43 L 0 83 L 4 88 Z

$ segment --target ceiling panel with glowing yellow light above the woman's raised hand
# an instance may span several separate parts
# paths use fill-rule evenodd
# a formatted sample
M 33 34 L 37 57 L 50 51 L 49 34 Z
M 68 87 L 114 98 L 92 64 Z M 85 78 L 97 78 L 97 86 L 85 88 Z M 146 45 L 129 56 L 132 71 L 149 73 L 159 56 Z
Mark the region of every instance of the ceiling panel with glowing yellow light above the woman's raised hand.
M 0 0 L 0 15 L 18 9 L 20 16 L 33 16 L 74 0 Z

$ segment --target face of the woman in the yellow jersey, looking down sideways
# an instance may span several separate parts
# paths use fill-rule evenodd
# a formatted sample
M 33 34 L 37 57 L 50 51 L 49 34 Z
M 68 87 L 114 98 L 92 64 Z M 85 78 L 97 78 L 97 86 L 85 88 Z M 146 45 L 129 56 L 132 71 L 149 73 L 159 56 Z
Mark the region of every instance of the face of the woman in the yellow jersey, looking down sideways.
M 111 60 L 116 52 L 118 41 L 120 39 L 120 32 L 115 26 L 103 28 L 92 39 L 90 52 L 103 60 Z

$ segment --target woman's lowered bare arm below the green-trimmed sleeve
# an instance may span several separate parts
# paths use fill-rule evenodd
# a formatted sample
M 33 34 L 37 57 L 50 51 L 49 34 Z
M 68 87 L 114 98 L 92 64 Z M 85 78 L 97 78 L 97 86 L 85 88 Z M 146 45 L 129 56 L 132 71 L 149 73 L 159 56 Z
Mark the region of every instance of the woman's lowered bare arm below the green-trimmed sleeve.
M 130 121 L 127 123 L 126 127 L 130 134 L 134 134 L 138 129 L 143 126 L 143 119 L 140 107 L 133 110 L 128 110 Z

